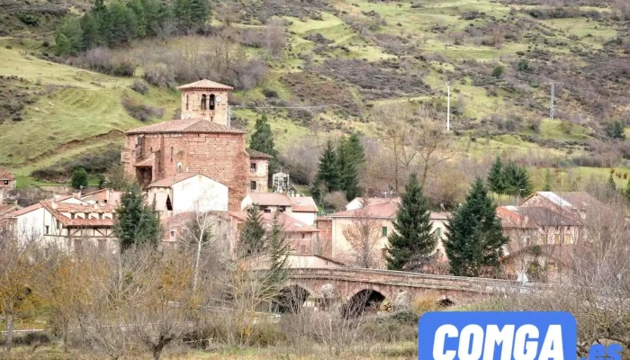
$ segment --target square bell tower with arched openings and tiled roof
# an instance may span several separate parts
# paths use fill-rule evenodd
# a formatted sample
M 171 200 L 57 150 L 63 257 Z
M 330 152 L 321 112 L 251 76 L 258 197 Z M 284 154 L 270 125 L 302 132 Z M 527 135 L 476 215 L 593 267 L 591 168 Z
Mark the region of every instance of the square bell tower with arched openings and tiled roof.
M 233 88 L 210 80 L 181 85 L 182 119 L 201 119 L 229 126 L 228 94 Z

